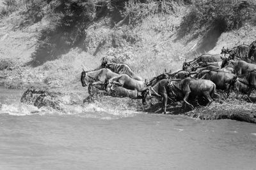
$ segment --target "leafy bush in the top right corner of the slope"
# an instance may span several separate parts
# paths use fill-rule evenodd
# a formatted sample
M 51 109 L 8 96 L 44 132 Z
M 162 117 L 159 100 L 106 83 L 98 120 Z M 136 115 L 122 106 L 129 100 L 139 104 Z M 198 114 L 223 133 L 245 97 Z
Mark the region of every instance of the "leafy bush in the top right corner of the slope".
M 220 25 L 220 31 L 230 31 L 242 27 L 252 20 L 256 8 L 254 1 L 220 1 L 195 0 L 189 13 L 180 24 L 179 34 L 185 36 L 190 32 L 205 33 L 214 25 Z

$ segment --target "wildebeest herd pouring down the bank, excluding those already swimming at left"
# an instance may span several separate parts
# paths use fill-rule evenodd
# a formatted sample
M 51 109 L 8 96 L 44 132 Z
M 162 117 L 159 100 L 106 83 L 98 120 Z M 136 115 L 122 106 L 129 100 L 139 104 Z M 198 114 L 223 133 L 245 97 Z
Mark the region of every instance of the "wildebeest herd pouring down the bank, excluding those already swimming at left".
M 225 90 L 227 97 L 231 87 L 248 94 L 256 88 L 256 41 L 251 45 L 222 48 L 220 54 L 203 54 L 192 61 L 185 61 L 182 70 L 171 71 L 150 80 L 143 80 L 127 64 L 109 62 L 103 58 L 99 69 L 81 73 L 83 87 L 88 86 L 88 101 L 97 94 L 113 97 L 142 99 L 146 104 L 149 96 L 163 99 L 163 111 L 169 101 L 184 101 L 192 109 L 188 99 L 206 99 L 209 106 L 218 98 L 216 89 Z

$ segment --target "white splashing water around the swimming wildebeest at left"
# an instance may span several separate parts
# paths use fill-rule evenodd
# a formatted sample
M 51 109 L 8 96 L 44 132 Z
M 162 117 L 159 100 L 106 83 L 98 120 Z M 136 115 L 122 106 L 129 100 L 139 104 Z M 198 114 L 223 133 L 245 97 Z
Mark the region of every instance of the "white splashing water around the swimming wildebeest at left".
M 100 118 L 111 120 L 124 117 L 132 117 L 134 114 L 140 113 L 136 108 L 129 108 L 118 99 L 107 99 L 106 101 L 95 101 L 94 103 L 70 104 L 70 97 L 62 97 L 62 111 L 54 110 L 51 107 L 37 108 L 31 104 L 20 103 L 22 91 L 7 90 L 1 88 L 3 96 L 0 99 L 0 114 L 9 114 L 15 116 L 25 115 L 76 115 L 77 117 Z M 5 95 L 4 95 L 5 94 Z M 122 99 L 121 99 L 122 100 Z M 115 103 L 113 103 L 115 101 Z

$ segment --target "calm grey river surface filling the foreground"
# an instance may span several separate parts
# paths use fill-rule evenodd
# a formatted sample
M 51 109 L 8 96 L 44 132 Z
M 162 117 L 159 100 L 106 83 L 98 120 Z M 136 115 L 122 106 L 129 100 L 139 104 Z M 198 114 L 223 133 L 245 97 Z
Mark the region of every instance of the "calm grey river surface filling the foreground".
M 21 96 L 0 88 L 0 169 L 256 169 L 255 124 L 93 106 L 55 113 Z

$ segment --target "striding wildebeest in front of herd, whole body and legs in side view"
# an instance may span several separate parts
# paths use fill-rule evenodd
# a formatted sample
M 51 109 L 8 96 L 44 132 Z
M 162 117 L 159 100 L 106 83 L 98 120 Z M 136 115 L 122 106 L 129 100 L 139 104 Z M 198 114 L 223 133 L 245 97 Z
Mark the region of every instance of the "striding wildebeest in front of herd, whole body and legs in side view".
M 192 104 L 188 103 L 189 95 L 193 97 L 205 97 L 208 100 L 206 106 L 212 103 L 212 97 L 216 94 L 216 85 L 211 80 L 185 78 L 179 81 L 170 81 L 168 91 L 172 92 L 177 99 L 183 99 L 192 109 Z

